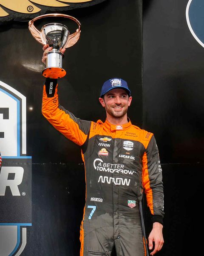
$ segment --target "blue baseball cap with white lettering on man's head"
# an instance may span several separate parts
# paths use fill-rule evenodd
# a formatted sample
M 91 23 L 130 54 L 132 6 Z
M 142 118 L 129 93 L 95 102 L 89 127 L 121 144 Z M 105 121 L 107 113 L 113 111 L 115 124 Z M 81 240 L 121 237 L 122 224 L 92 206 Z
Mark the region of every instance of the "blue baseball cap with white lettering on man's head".
M 108 93 L 108 91 L 115 88 L 125 89 L 127 91 L 127 94 L 130 96 L 130 89 L 127 86 L 127 82 L 121 78 L 112 78 L 112 79 L 108 79 L 103 84 L 100 97 L 104 96 L 105 93 Z

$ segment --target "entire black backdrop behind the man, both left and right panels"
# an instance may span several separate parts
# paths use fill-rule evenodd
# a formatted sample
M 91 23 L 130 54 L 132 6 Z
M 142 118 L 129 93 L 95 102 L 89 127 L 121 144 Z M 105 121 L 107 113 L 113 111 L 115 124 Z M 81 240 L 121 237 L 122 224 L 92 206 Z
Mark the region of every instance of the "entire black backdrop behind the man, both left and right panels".
M 132 91 L 130 119 L 156 136 L 166 213 L 165 243 L 158 256 L 196 250 L 202 221 L 204 49 L 187 27 L 187 2 L 143 0 L 142 12 L 142 0 L 107 0 L 65 12 L 81 22 L 82 33 L 65 52 L 60 104 L 81 119 L 104 120 L 100 88 L 105 80 L 121 77 Z M 28 22 L 10 22 L 0 29 L 0 80 L 27 100 L 32 227 L 22 255 L 78 256 L 85 200 L 80 149 L 41 114 L 42 46 L 31 36 Z M 145 222 L 148 236 L 147 213 Z

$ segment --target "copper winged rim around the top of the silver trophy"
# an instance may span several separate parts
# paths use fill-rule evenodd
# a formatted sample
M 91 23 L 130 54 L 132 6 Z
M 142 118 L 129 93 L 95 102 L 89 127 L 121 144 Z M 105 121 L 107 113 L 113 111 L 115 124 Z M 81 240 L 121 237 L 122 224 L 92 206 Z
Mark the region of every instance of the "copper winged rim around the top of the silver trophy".
M 34 22 L 36 20 L 40 20 L 40 19 L 45 18 L 45 17 L 64 17 L 64 18 L 68 18 L 68 19 L 74 20 L 78 24 L 78 29 L 76 30 L 76 32 L 74 32 L 73 34 L 68 36 L 68 40 L 67 40 L 66 44 L 63 46 L 63 48 L 71 47 L 71 46 L 73 46 L 74 44 L 77 43 L 77 41 L 79 40 L 80 32 L 81 32 L 81 23 L 79 22 L 79 20 L 77 20 L 73 16 L 62 14 L 62 13 L 49 13 L 49 14 L 43 14 L 43 15 L 34 17 L 32 20 L 29 20 L 29 22 L 28 22 L 28 28 L 29 28 L 29 30 L 31 32 L 31 35 L 40 44 L 45 45 L 46 42 L 43 40 L 41 32 L 34 26 Z M 60 24 L 60 23 L 58 23 L 58 24 Z M 63 25 L 63 26 L 65 26 L 65 25 Z

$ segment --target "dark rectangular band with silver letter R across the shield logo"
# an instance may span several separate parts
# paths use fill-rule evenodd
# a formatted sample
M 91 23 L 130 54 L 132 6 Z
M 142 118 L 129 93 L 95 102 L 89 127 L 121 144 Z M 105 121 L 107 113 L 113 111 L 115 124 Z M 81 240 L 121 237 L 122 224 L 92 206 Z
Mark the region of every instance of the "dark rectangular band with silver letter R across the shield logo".
M 31 159 L 3 158 L 0 223 L 31 223 Z

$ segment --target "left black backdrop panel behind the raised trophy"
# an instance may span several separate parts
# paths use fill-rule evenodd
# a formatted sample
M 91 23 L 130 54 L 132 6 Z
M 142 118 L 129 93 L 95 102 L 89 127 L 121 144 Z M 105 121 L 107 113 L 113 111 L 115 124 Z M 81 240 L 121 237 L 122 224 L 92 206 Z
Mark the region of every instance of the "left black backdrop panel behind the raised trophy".
M 142 1 L 107 0 L 64 12 L 82 24 L 77 44 L 65 52 L 67 75 L 59 80 L 60 104 L 81 119 L 105 120 L 98 98 L 104 81 L 125 79 L 134 98 L 129 116 L 142 126 Z M 48 19 L 36 23 L 38 29 Z M 68 22 L 68 20 L 55 20 Z M 75 27 L 65 23 L 71 32 Z M 78 256 L 85 203 L 80 148 L 41 114 L 42 45 L 28 21 L 1 26 L 0 80 L 27 100 L 27 155 L 32 156 L 32 227 L 23 256 Z M 30 108 L 32 107 L 32 110 Z

